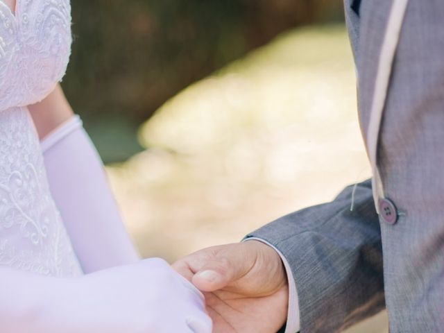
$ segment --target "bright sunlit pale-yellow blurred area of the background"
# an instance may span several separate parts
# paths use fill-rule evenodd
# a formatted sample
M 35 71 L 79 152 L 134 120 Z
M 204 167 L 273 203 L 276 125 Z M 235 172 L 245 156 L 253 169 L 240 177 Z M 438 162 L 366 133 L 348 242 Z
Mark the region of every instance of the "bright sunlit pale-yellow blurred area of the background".
M 356 104 L 343 25 L 293 29 L 169 99 L 139 130 L 146 150 L 107 167 L 142 255 L 237 242 L 370 176 Z

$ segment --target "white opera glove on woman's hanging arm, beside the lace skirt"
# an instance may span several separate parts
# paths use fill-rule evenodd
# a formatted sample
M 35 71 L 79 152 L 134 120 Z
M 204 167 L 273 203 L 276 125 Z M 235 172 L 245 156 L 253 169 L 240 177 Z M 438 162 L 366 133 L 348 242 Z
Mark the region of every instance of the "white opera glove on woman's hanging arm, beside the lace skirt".
M 80 118 L 71 117 L 41 146 L 51 194 L 83 271 L 138 262 L 99 154 Z

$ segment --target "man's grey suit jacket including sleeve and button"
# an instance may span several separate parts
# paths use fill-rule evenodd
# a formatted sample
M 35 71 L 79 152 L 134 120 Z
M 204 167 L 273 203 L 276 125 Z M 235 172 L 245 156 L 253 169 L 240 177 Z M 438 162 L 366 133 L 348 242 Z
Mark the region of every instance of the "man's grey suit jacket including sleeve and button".
M 409 0 L 398 34 L 402 1 L 345 0 L 374 193 L 368 180 L 352 212 L 348 187 L 248 235 L 291 265 L 302 333 L 340 332 L 385 306 L 391 333 L 444 332 L 444 1 Z

